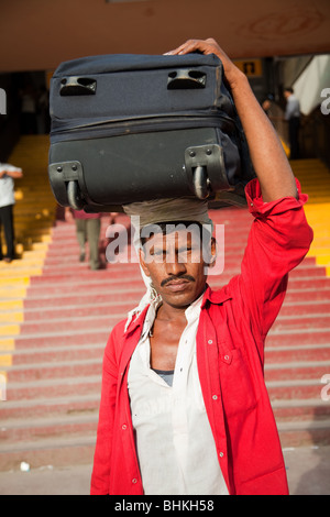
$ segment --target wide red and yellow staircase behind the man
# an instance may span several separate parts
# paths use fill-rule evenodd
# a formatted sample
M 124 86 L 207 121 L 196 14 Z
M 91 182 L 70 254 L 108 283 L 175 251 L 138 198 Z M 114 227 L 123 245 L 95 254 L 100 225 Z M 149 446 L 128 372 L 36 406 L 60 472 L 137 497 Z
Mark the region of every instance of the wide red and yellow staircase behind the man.
M 25 144 L 19 144 L 10 161 L 22 164 L 26 177 L 34 162 L 25 156 L 24 166 L 20 158 Z M 317 161 L 295 162 L 294 167 L 310 191 L 307 216 L 316 240 L 290 275 L 266 341 L 266 383 L 283 447 L 330 443 L 330 403 L 321 399 L 321 377 L 330 374 L 330 175 Z M 45 205 L 36 209 L 26 204 L 24 213 L 31 217 L 36 209 L 44 226 L 31 227 L 31 238 L 28 226 L 21 260 L 0 267 L 0 381 L 6 378 L 7 398 L 0 400 L 2 471 L 18 469 L 22 461 L 32 468 L 92 461 L 105 345 L 113 324 L 144 293 L 136 264 L 107 264 L 91 272 L 88 262 L 78 262 L 74 223 L 46 224 L 44 219 L 54 220 L 55 207 L 46 195 L 45 155 L 41 170 L 37 183 Z M 18 187 L 26 196 L 23 183 Z M 21 201 L 16 221 L 23 224 Z M 47 217 L 43 210 L 50 210 Z M 211 217 L 226 224 L 224 272 L 210 277 L 211 286 L 220 287 L 239 272 L 251 216 L 221 209 Z M 121 215 L 118 223 L 128 227 L 129 221 Z M 107 226 L 105 217 L 103 237 Z

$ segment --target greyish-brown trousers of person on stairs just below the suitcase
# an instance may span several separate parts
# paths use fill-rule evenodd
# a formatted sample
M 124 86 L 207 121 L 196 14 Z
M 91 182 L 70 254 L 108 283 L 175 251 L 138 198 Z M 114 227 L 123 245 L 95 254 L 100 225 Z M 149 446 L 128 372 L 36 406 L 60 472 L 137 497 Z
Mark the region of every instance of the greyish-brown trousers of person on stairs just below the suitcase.
M 85 252 L 85 244 L 89 245 L 89 264 L 91 270 L 100 267 L 99 240 L 101 231 L 100 219 L 76 219 L 77 240 L 80 252 Z

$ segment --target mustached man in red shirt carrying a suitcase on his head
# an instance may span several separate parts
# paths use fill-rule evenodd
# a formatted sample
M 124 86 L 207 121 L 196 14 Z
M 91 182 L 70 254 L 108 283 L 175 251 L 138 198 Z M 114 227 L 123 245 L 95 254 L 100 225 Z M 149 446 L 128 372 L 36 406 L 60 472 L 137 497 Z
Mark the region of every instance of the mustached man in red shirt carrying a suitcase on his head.
M 241 274 L 212 292 L 205 267 L 215 260 L 215 241 L 204 239 L 198 249 L 194 232 L 164 231 L 177 219 L 204 226 L 206 207 L 141 204 L 140 261 L 152 286 L 135 319 L 119 323 L 107 344 L 91 494 L 288 493 L 263 375 L 264 340 L 287 274 L 312 239 L 307 197 L 246 77 L 219 45 L 190 40 L 172 54 L 196 51 L 222 61 L 257 175 L 246 188 L 255 220 Z M 139 207 L 131 208 L 136 215 Z M 147 224 L 157 221 L 152 235 Z

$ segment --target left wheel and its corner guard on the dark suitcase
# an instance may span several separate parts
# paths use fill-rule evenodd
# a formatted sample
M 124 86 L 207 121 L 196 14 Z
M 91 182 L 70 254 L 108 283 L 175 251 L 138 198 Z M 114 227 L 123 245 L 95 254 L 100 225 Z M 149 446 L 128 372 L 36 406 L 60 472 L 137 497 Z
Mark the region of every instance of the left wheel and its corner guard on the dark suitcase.
M 82 165 L 80 162 L 50 164 L 48 175 L 58 204 L 74 210 L 81 210 L 86 201 L 79 187 L 79 179 L 82 180 Z

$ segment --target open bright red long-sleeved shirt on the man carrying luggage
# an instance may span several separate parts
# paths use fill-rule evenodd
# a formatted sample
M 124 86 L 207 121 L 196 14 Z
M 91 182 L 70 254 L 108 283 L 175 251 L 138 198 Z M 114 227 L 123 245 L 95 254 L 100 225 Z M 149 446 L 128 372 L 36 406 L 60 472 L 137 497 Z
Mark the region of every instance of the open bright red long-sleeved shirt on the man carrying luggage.
M 302 208 L 307 196 L 300 189 L 299 200 L 287 197 L 264 204 L 254 179 L 246 198 L 255 219 L 241 274 L 220 290 L 208 287 L 205 293 L 196 338 L 198 372 L 229 493 L 287 494 L 264 382 L 264 341 L 283 304 L 288 272 L 307 253 L 312 231 Z M 143 494 L 128 372 L 145 314 L 146 309 L 127 333 L 124 321 L 116 326 L 106 348 L 91 494 Z

